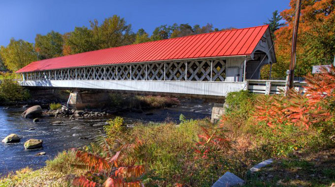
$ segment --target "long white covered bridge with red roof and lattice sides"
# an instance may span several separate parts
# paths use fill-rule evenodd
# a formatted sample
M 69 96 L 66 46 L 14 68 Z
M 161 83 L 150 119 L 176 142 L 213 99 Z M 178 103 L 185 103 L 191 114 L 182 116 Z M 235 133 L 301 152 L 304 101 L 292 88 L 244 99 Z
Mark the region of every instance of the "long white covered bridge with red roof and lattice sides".
M 47 59 L 17 73 L 23 86 L 225 96 L 275 62 L 266 25 Z

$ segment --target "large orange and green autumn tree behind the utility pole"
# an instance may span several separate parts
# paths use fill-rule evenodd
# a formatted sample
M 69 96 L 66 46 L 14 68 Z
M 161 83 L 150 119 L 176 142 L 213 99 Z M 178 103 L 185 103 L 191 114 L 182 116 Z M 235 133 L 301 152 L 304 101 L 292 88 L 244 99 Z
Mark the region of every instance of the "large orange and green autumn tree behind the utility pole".
M 289 67 L 295 3 L 296 0 L 291 0 L 291 8 L 281 12 L 281 16 L 288 25 L 274 32 L 277 63 L 273 64 L 273 77 L 285 77 L 285 71 Z M 303 1 L 297 41 L 296 77 L 310 73 L 312 65 L 333 62 L 335 55 L 334 8 L 334 0 Z

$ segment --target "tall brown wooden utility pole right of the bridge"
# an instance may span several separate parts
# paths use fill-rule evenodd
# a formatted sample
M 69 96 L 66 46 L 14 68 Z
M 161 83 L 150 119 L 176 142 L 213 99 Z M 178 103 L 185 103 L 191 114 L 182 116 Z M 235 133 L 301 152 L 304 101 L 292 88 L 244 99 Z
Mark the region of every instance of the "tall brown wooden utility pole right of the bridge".
M 296 47 L 297 47 L 297 36 L 298 36 L 301 1 L 302 0 L 297 0 L 296 2 L 296 12 L 295 12 L 293 36 L 292 36 L 291 62 L 290 62 L 290 68 L 287 72 L 288 78 L 287 78 L 286 93 L 289 89 L 294 87 L 294 68 L 296 66 L 296 56 L 297 56 Z

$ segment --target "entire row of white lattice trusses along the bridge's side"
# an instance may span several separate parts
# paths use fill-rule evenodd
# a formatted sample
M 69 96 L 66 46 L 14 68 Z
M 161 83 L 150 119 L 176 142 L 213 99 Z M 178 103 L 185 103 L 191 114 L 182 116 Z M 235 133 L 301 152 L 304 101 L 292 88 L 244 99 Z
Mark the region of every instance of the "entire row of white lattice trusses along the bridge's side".
M 225 81 L 225 60 L 132 63 L 24 73 L 26 80 Z

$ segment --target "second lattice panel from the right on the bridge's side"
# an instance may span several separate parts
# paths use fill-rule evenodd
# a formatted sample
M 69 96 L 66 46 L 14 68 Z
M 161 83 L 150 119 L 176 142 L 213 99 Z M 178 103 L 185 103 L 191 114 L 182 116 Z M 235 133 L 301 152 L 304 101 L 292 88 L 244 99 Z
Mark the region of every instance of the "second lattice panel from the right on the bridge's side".
M 187 62 L 188 81 L 210 81 L 211 61 Z

